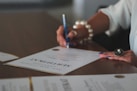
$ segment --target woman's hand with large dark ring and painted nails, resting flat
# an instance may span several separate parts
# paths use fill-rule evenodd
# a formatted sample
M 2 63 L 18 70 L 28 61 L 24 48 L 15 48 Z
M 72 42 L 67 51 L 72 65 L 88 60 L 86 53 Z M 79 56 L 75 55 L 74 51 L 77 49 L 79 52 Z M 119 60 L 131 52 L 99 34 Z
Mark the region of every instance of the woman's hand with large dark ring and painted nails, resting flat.
M 124 51 L 123 55 L 117 56 L 114 52 L 102 52 L 100 58 L 108 58 L 112 60 L 125 61 L 137 66 L 137 57 L 132 50 Z

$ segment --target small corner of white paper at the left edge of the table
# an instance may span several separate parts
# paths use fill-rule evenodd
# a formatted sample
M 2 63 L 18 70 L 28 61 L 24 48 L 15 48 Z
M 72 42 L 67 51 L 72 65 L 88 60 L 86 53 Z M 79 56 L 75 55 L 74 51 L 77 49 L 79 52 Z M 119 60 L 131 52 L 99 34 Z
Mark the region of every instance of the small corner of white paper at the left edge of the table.
M 0 52 L 0 61 L 5 62 L 13 59 L 17 59 L 18 57 L 9 53 Z

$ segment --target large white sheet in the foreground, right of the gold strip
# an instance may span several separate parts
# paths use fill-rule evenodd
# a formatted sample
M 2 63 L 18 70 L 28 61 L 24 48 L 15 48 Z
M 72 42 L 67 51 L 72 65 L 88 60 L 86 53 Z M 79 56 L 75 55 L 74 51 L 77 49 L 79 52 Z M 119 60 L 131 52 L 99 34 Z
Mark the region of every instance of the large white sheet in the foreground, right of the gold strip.
M 137 74 L 33 77 L 34 91 L 137 91 Z

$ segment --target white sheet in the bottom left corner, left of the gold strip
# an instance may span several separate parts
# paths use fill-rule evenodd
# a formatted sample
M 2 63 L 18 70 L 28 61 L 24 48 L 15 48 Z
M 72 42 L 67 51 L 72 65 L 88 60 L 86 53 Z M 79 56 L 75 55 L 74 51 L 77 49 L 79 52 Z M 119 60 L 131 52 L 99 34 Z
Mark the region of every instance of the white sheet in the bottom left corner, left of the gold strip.
M 0 91 L 31 91 L 30 87 L 28 78 L 0 80 Z

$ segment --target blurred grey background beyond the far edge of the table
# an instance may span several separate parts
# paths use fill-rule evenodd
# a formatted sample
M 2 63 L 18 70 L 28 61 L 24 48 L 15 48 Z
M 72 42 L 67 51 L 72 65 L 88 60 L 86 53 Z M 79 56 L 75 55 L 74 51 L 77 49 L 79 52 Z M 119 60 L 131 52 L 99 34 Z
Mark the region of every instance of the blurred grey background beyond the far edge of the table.
M 0 0 L 0 12 L 23 12 L 44 10 L 61 20 L 65 13 L 69 24 L 77 19 L 87 19 L 98 8 L 116 3 L 118 0 Z

